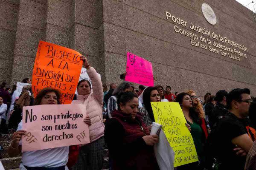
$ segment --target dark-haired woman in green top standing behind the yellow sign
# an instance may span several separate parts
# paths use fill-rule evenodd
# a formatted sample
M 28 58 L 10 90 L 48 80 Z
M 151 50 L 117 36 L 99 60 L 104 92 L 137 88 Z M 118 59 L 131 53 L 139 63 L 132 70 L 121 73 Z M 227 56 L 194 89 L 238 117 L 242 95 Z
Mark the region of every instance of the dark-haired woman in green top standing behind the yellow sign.
M 187 123 L 191 126 L 191 135 L 195 143 L 195 148 L 198 154 L 198 162 L 186 164 L 178 167 L 178 170 L 201 170 L 203 168 L 203 144 L 208 136 L 206 122 L 204 117 L 193 109 L 192 99 L 187 93 L 180 93 L 176 97 L 176 102 L 179 102 Z

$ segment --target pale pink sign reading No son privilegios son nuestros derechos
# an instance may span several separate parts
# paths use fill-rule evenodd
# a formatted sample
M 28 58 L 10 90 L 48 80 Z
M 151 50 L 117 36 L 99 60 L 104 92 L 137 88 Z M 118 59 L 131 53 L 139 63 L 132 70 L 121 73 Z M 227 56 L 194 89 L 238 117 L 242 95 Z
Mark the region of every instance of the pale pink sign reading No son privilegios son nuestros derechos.
M 85 117 L 86 106 L 81 104 L 23 107 L 22 129 L 27 132 L 22 151 L 90 143 Z

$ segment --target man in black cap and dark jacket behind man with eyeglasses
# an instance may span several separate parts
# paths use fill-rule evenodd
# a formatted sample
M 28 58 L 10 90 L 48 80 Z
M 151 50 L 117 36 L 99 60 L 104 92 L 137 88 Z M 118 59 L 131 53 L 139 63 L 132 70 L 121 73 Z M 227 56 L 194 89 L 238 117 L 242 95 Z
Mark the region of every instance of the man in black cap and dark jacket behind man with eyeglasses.
M 218 119 L 220 117 L 223 117 L 226 115 L 228 112 L 226 109 L 226 96 L 227 96 L 227 91 L 225 90 L 220 90 L 216 93 L 215 100 L 217 101 L 215 108 L 212 110 L 212 113 L 209 114 L 209 124 L 210 127 L 212 128 L 213 125 L 218 122 Z

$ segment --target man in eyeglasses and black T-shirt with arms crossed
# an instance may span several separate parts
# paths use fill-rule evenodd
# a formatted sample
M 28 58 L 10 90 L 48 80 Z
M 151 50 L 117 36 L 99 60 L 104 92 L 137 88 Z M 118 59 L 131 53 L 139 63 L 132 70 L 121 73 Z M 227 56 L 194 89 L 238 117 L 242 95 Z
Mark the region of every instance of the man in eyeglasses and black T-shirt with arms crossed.
M 248 88 L 236 88 L 227 94 L 228 113 L 219 120 L 212 141 L 218 170 L 244 170 L 245 155 L 253 144 L 246 128 L 251 102 Z M 244 154 L 240 155 L 237 148 Z

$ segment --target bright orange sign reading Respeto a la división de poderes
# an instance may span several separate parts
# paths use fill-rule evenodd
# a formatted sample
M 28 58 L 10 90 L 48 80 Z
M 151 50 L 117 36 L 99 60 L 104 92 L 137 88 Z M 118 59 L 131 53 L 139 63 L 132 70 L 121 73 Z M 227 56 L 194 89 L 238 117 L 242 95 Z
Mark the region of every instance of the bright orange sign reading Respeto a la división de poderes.
M 61 104 L 70 104 L 83 62 L 75 50 L 40 41 L 32 75 L 34 96 L 46 87 L 61 91 Z

